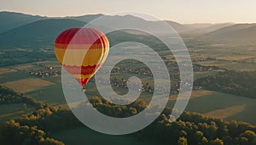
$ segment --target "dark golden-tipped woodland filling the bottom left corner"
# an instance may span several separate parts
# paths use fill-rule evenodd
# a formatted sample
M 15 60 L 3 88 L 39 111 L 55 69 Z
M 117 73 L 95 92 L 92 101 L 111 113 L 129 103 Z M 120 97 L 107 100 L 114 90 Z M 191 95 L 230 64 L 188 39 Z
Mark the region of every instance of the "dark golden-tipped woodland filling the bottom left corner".
M 69 109 L 46 107 L 0 126 L 0 142 L 10 145 L 64 145 L 52 132 L 83 126 Z

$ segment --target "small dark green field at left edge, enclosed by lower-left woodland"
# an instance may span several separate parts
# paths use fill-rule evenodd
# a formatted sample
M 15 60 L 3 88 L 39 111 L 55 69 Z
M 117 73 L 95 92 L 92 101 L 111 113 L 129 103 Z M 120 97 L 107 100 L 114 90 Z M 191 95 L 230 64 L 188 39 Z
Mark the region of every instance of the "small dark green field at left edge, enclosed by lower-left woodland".
M 22 114 L 32 113 L 32 111 L 35 110 L 35 108 L 29 104 L 26 104 L 25 109 L 23 104 L 24 103 L 0 104 L 0 122 L 15 119 Z

